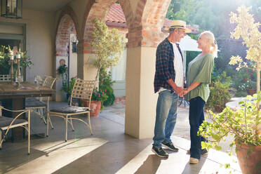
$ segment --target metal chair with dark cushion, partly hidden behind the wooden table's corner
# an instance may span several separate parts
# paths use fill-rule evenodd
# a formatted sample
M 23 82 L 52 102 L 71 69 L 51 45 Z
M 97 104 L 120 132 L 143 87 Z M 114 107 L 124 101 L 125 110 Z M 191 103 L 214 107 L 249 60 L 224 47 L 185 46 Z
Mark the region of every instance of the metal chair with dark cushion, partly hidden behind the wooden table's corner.
M 40 81 L 42 79 L 39 79 Z M 53 84 L 55 83 L 56 78 L 53 78 L 51 76 L 46 76 L 44 79 L 44 82 L 42 83 L 41 86 L 43 87 L 47 87 L 47 88 L 53 88 Z M 46 123 L 46 119 L 45 119 L 45 114 L 44 114 L 44 109 L 46 109 L 48 111 L 49 109 L 49 100 L 50 97 L 47 97 L 47 103 L 43 101 L 43 98 L 40 97 L 39 99 L 37 98 L 26 98 L 25 99 L 25 109 L 32 109 L 34 113 L 38 114 L 39 116 L 41 116 L 41 119 L 44 120 L 44 123 Z M 51 127 L 53 128 L 53 123 L 51 122 L 51 119 L 49 119 L 48 121 L 50 121 L 51 123 Z

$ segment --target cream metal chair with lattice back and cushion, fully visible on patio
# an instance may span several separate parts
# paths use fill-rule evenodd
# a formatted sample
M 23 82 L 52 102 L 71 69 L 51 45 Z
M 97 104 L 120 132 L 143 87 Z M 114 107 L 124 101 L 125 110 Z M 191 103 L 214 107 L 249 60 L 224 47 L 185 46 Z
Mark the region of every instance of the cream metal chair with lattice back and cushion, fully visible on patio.
M 90 121 L 90 105 L 91 105 L 91 95 L 93 93 L 93 88 L 95 87 L 97 81 L 85 81 L 81 79 L 76 79 L 74 83 L 74 87 L 72 88 L 72 95 L 70 99 L 70 103 L 68 106 L 65 107 L 59 107 L 55 109 L 51 109 L 50 111 L 47 111 L 47 119 L 50 119 L 50 116 L 59 116 L 62 119 L 65 119 L 65 142 L 67 142 L 67 128 L 68 128 L 68 122 L 72 126 L 72 131 L 74 131 L 74 126 L 72 124 L 72 120 L 79 120 L 85 123 L 85 125 L 90 128 L 91 135 L 93 135 L 93 131 L 91 128 L 91 121 Z M 89 106 L 88 107 L 76 107 L 72 105 L 72 98 L 76 98 L 79 100 L 89 100 Z M 79 114 L 88 114 L 88 122 L 83 121 L 79 118 L 74 118 L 73 116 L 79 115 Z M 47 122 L 47 133 L 46 135 L 49 135 L 49 124 Z

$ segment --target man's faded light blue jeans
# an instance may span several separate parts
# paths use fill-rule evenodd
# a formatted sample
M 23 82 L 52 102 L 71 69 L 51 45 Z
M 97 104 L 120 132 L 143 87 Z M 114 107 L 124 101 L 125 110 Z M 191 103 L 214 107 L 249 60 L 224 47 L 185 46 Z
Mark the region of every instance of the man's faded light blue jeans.
M 161 142 L 171 142 L 178 109 L 178 94 L 168 90 L 159 93 L 156 104 L 156 122 L 154 128 L 154 147 L 161 147 Z

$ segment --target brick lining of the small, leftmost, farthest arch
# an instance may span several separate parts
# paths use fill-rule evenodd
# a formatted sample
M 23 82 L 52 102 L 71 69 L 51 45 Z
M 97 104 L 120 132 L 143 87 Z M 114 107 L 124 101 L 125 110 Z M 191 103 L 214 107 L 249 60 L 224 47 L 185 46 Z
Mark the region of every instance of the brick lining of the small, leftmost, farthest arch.
M 65 7 L 58 20 L 55 37 L 56 56 L 67 56 L 70 34 L 79 39 L 79 24 L 72 8 Z

